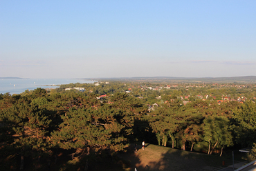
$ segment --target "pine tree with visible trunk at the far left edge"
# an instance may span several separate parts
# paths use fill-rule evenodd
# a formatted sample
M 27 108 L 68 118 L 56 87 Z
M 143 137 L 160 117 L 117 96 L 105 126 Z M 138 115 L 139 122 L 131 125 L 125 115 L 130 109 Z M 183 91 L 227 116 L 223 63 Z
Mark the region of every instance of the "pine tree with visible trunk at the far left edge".
M 51 117 L 39 110 L 38 106 L 26 99 L 19 99 L 15 104 L 0 113 L 2 149 L 4 154 L 21 156 L 21 168 L 24 157 L 31 154 L 50 152 L 49 125 Z

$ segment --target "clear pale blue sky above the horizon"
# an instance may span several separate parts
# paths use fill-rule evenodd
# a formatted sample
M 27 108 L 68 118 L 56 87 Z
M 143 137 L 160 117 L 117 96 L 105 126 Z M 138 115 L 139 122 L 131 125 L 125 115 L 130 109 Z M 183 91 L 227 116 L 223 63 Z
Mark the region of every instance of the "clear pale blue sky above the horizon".
M 0 1 L 0 77 L 256 75 L 256 1 Z

